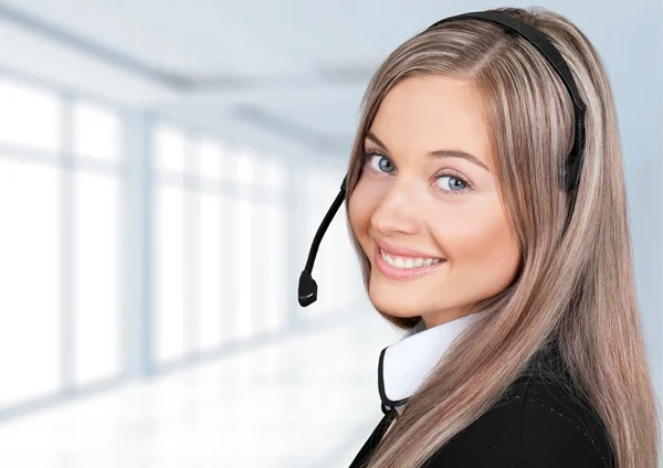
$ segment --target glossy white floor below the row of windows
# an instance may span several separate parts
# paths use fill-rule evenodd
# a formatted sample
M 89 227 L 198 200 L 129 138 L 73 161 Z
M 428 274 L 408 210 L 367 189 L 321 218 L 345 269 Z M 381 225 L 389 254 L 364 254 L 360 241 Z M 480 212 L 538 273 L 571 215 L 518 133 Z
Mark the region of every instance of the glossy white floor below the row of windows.
M 381 418 L 369 309 L 241 355 L 0 423 L 11 468 L 346 468 Z

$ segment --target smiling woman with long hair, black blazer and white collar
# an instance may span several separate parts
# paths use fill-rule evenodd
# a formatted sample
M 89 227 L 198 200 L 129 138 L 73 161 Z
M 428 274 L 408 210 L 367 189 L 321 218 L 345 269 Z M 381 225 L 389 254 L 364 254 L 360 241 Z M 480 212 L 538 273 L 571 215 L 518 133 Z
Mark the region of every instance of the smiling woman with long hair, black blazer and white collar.
M 555 44 L 578 99 L 532 41 L 466 18 L 371 79 L 346 215 L 371 302 L 409 333 L 380 354 L 387 416 L 352 467 L 654 468 L 604 67 L 565 17 L 493 11 Z

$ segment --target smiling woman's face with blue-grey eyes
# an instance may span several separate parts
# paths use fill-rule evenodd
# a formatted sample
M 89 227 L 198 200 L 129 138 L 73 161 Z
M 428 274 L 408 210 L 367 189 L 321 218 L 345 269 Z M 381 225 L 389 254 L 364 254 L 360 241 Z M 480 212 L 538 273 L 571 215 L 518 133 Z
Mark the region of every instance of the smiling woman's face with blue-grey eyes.
M 519 252 L 488 131 L 482 97 L 466 81 L 409 77 L 382 100 L 348 206 L 380 311 L 422 316 L 431 328 L 466 315 L 515 278 Z M 381 244 L 418 254 L 383 259 Z

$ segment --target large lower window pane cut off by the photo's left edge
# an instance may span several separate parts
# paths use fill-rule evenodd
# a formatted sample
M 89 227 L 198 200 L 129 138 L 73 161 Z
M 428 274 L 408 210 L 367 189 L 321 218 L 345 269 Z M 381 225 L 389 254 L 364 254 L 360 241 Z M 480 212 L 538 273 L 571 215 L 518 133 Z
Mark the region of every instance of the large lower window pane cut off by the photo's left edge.
M 0 153 L 0 408 L 61 389 L 64 260 L 60 171 L 4 156 Z

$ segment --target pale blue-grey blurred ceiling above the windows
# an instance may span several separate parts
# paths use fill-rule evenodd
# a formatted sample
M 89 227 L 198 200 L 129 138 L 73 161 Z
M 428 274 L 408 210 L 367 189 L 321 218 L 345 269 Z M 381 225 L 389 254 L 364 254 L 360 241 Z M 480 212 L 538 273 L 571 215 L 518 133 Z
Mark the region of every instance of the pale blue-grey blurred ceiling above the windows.
M 379 63 L 459 7 L 434 0 L 415 8 L 406 0 L 0 0 L 0 44 L 11 44 L 0 47 L 0 70 L 147 107 L 229 138 L 257 131 L 345 156 Z

